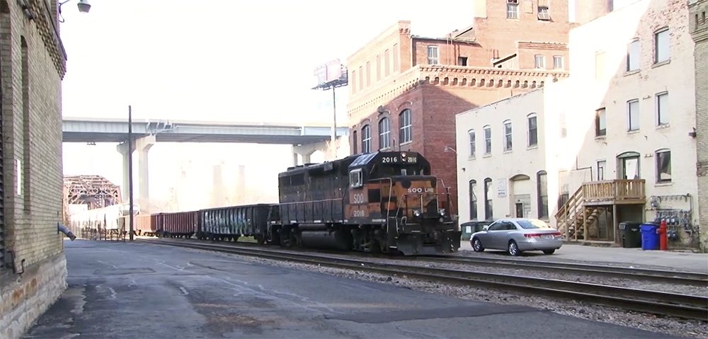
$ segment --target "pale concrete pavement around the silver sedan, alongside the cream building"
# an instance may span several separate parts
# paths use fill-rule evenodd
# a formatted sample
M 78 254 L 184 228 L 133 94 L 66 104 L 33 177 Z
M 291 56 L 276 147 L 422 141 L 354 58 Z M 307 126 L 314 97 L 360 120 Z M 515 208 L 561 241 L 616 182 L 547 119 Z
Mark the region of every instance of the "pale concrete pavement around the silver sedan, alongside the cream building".
M 462 241 L 459 250 L 463 255 L 505 255 L 502 251 L 475 253 L 469 241 Z M 508 255 L 506 256 L 508 257 Z M 595 247 L 566 244 L 552 255 L 544 255 L 540 251 L 533 251 L 524 253 L 523 257 L 519 259 L 565 261 L 595 265 L 621 265 L 624 267 L 631 266 L 633 268 L 663 268 L 708 273 L 708 253 L 642 251 L 641 248 Z

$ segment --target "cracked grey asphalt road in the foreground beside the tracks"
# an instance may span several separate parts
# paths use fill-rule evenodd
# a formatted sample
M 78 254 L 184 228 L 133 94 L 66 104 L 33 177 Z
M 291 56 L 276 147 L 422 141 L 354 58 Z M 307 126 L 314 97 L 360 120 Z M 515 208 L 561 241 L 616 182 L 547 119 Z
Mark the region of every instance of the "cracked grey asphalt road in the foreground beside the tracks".
M 69 288 L 33 339 L 675 338 L 142 243 L 66 243 Z

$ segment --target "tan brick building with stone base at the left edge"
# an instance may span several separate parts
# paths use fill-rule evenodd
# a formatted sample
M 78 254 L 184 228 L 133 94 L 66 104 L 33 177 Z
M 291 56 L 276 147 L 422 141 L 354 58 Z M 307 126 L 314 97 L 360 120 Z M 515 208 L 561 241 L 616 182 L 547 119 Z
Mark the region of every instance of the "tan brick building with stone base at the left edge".
M 0 0 L 0 51 L 0 338 L 15 339 L 67 287 L 57 1 Z

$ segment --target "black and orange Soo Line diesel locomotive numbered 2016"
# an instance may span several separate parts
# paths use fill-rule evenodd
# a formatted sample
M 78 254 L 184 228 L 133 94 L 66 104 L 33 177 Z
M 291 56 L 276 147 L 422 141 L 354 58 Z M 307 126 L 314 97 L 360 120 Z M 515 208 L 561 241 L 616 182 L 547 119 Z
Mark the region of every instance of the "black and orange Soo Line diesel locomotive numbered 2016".
M 452 253 L 462 232 L 450 193 L 416 152 L 379 151 L 288 168 L 269 241 L 342 251 Z

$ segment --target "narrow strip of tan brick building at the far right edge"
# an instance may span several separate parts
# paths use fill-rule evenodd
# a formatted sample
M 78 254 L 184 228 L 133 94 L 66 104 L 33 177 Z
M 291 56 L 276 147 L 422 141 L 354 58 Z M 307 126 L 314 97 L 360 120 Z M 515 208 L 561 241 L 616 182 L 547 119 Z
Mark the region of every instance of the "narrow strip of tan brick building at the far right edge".
M 708 252 L 708 0 L 689 0 L 689 30 L 695 42 L 696 151 L 701 247 Z

